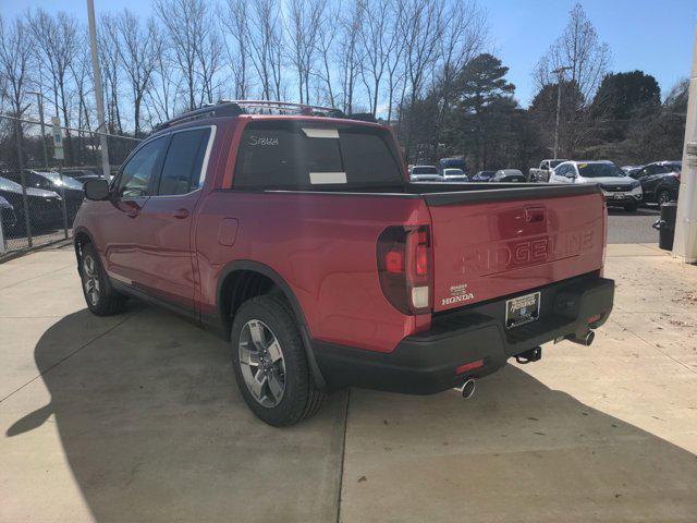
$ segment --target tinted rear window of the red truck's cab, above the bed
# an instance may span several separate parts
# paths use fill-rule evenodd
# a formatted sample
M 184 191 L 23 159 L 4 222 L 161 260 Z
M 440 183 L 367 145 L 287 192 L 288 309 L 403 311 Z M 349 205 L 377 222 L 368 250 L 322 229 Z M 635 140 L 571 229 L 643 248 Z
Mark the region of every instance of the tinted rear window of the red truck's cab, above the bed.
M 233 185 L 317 188 L 403 182 L 383 130 L 272 121 L 254 122 L 245 129 Z

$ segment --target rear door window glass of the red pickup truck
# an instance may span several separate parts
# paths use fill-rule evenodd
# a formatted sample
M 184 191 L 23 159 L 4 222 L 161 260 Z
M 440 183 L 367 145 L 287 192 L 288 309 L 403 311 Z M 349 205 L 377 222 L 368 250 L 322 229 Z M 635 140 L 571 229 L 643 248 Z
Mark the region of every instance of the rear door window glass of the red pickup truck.
M 162 166 L 159 195 L 186 194 L 200 187 L 209 136 L 209 127 L 172 134 Z

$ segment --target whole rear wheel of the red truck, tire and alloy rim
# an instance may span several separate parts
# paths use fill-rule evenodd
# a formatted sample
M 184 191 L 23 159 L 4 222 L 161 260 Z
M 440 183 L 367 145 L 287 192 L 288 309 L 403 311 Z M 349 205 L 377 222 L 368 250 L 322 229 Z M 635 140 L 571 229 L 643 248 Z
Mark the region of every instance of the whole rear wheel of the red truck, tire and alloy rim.
M 235 314 L 232 363 L 247 406 L 276 427 L 317 413 L 325 399 L 313 380 L 295 318 L 282 299 L 254 297 Z

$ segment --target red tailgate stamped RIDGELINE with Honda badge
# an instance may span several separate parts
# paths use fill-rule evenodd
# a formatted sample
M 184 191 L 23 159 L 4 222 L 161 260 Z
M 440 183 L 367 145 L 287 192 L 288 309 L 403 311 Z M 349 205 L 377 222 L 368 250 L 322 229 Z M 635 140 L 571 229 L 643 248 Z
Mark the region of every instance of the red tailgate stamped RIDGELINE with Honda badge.
M 606 211 L 600 193 L 535 194 L 504 200 L 485 192 L 461 202 L 453 193 L 426 197 L 433 228 L 433 311 L 601 268 Z

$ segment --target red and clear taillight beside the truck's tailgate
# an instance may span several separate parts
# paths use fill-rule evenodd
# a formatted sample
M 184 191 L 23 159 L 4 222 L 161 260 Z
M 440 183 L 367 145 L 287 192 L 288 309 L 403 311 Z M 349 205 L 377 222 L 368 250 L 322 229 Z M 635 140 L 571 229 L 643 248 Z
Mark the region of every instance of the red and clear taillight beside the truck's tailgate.
M 388 227 L 378 238 L 378 276 L 384 297 L 403 314 L 431 308 L 428 226 Z

